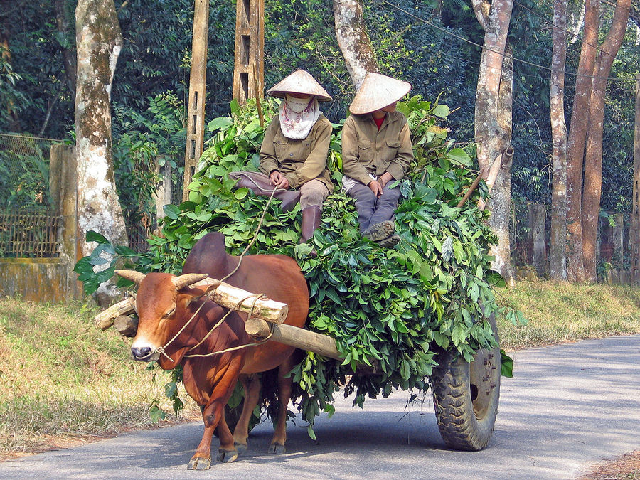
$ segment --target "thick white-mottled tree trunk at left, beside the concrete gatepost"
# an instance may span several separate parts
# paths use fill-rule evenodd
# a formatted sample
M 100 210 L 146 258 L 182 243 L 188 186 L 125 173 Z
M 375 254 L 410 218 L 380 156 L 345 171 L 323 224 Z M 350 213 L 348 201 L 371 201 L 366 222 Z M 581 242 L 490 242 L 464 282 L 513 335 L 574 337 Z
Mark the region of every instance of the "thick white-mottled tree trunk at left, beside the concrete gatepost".
M 85 242 L 89 230 L 111 242 L 128 243 L 114 183 L 111 144 L 111 85 L 122 35 L 113 0 L 79 0 L 75 16 L 78 229 L 82 255 L 89 255 L 93 250 L 92 244 Z M 97 295 L 102 303 L 117 292 L 113 286 L 102 284 Z

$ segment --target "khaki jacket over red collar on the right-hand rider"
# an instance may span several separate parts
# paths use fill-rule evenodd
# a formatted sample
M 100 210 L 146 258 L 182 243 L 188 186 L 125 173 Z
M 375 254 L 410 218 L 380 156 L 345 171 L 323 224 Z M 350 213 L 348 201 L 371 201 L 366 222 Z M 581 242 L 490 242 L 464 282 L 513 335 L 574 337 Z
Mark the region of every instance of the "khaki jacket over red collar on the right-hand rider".
M 369 174 L 388 171 L 395 180 L 404 177 L 413 159 L 407 118 L 400 112 L 385 115 L 378 126 L 371 114 L 350 115 L 342 129 L 342 169 L 346 176 L 368 185 Z

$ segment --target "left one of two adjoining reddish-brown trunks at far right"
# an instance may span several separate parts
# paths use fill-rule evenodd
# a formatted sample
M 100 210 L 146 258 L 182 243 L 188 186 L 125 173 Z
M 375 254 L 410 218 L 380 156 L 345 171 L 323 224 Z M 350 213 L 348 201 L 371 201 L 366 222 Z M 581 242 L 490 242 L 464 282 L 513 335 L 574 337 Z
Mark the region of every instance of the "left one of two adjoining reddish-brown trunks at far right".
M 567 279 L 585 281 L 582 262 L 582 159 L 585 155 L 587 114 L 598 43 L 599 0 L 585 1 L 585 37 L 575 80 L 571 126 L 567 138 Z

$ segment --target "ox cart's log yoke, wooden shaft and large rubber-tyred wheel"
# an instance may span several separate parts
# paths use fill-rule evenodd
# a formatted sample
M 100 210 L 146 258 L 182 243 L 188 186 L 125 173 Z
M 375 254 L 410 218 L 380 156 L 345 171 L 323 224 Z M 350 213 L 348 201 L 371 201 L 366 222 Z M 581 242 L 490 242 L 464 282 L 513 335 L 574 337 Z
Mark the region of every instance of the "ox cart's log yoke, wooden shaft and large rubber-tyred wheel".
M 342 360 L 334 338 L 284 324 L 289 306 L 246 292 L 216 279 L 204 278 L 192 285 L 207 289 L 213 302 L 247 314 L 245 331 L 255 341 L 284 343 L 327 358 Z M 124 336 L 135 336 L 137 318 L 134 297 L 129 297 L 95 317 L 105 330 L 114 326 Z M 488 319 L 498 333 L 495 316 Z M 437 349 L 438 366 L 430 376 L 437 425 L 452 449 L 479 450 L 486 447 L 494 430 L 501 377 L 499 346 L 477 351 L 470 363 L 451 351 Z M 363 369 L 366 371 L 366 369 Z

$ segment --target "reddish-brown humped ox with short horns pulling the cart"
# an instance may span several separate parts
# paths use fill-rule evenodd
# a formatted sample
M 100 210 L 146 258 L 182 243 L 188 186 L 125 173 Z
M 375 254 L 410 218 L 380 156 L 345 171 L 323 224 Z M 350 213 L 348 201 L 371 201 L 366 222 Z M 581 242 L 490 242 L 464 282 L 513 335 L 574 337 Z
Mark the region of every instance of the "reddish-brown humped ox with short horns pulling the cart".
M 183 274 L 118 272 L 139 283 L 136 310 L 139 325 L 132 344 L 134 358 L 157 360 L 161 368 L 183 366 L 183 382 L 188 395 L 201 405 L 204 420 L 202 441 L 191 457 L 188 469 L 208 469 L 211 464 L 211 439 L 216 427 L 220 439 L 218 462 L 233 462 L 247 448 L 248 424 L 260 400 L 260 383 L 255 373 L 278 367 L 279 418 L 269 452 L 284 453 L 287 437 L 287 405 L 291 395 L 294 348 L 268 341 L 259 346 L 240 348 L 213 356 L 193 354 L 218 352 L 227 348 L 255 343 L 244 329 L 245 316 L 232 311 L 225 321 L 190 351 L 228 312 L 203 295 L 206 289 L 191 287 L 202 278 L 193 273 L 206 273 L 221 279 L 238 265 L 238 257 L 225 252 L 220 233 L 209 233 L 193 246 L 183 267 Z M 289 305 L 285 324 L 304 326 L 309 311 L 309 290 L 297 263 L 284 255 L 247 255 L 238 272 L 225 280 L 248 292 L 265 293 L 270 299 Z M 202 307 L 202 308 L 201 308 Z M 200 311 L 198 311 L 198 309 Z M 189 319 L 193 317 L 191 322 Z M 188 325 L 178 334 L 180 329 Z M 174 341 L 171 338 L 177 337 Z M 169 345 L 167 345 L 169 343 Z M 238 378 L 245 387 L 245 403 L 233 435 L 225 421 L 224 408 Z

